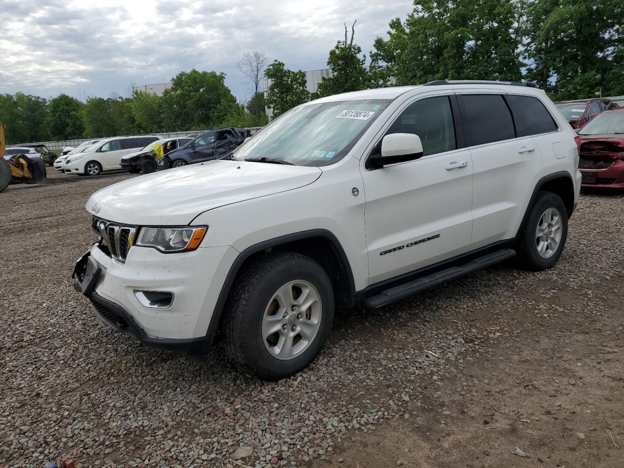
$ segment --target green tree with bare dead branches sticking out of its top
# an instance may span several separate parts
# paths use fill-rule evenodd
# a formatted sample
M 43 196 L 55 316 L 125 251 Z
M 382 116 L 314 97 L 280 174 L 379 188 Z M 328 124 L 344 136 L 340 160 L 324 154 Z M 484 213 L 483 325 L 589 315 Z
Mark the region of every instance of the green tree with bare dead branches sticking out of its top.
M 362 49 L 357 44 L 353 44 L 356 21 L 351 25 L 351 41 L 347 42 L 345 24 L 344 42 L 338 41 L 336 47 L 329 51 L 327 64 L 331 70 L 331 76 L 323 77 L 314 97 L 366 89 L 368 82 L 368 72 L 364 66 L 366 56 L 360 58 L 359 54 L 362 53 Z

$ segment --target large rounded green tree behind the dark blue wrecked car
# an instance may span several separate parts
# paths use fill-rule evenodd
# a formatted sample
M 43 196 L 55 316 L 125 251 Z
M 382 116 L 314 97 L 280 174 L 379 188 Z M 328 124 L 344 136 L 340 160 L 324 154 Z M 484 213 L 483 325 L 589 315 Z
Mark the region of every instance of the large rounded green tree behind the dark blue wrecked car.
M 235 111 L 236 98 L 225 85 L 225 74 L 181 72 L 163 94 L 166 130 L 207 129 Z

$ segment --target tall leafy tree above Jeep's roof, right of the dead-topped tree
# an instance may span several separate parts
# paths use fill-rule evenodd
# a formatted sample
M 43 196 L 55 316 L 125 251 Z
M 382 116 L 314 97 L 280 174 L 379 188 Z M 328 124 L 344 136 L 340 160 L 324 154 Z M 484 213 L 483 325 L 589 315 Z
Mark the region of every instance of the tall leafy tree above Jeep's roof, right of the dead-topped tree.
M 416 0 L 406 21 L 371 52 L 371 80 L 397 85 L 437 79 L 520 80 L 517 8 L 512 0 Z

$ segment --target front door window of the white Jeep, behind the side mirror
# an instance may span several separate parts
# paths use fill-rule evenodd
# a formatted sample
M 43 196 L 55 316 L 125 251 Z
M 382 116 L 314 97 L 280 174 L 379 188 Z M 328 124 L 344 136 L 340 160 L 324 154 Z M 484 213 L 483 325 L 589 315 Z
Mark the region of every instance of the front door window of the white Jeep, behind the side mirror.
M 449 97 L 427 97 L 410 104 L 388 129 L 388 134 L 418 135 L 425 156 L 457 149 Z

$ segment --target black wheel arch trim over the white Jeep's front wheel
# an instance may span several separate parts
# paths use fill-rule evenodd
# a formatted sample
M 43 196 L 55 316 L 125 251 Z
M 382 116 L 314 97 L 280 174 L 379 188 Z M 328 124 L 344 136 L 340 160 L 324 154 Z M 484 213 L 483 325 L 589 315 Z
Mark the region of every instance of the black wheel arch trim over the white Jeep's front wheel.
M 221 287 L 217 303 L 210 318 L 207 335 L 217 333 L 222 319 L 225 303 L 230 295 L 236 276 L 241 269 L 256 258 L 271 251 L 295 251 L 309 256 L 323 267 L 331 280 L 336 303 L 341 306 L 352 306 L 355 294 L 353 271 L 338 238 L 325 229 L 313 229 L 298 233 L 278 236 L 259 242 L 243 250 L 230 266 Z

